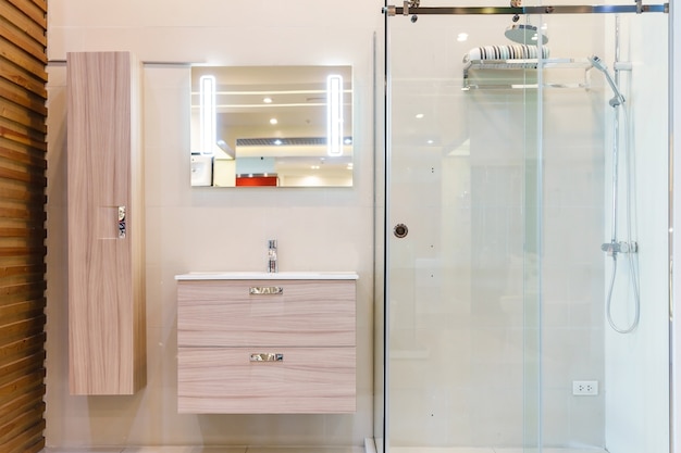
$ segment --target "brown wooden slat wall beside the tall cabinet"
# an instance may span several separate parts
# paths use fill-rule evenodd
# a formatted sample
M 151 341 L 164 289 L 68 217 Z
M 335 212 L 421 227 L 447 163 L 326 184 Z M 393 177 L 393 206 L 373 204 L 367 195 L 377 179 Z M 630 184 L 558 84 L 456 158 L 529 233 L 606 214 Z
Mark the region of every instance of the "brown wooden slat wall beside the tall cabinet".
M 0 0 L 0 452 L 45 446 L 47 0 Z

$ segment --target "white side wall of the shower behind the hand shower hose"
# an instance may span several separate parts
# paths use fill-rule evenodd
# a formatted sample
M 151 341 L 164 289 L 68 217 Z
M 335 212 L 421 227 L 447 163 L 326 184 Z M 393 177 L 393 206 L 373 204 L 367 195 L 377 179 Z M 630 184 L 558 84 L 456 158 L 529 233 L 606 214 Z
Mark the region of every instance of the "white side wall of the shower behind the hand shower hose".
M 626 134 L 630 133 L 635 155 L 632 237 L 640 246 L 641 323 L 629 335 L 606 327 L 606 445 L 612 453 L 669 450 L 668 20 L 667 15 L 644 14 L 620 21 L 620 59 L 632 63 L 631 72 L 620 74 L 628 105 L 620 121 L 620 180 L 626 177 Z M 614 41 L 608 49 L 615 49 Z M 605 133 L 610 147 L 611 123 Z M 618 236 L 626 240 L 624 192 L 620 193 Z M 610 223 L 606 227 L 609 234 Z M 609 277 L 609 260 L 606 272 Z M 620 255 L 612 300 L 620 326 L 632 319 L 631 288 L 629 264 Z

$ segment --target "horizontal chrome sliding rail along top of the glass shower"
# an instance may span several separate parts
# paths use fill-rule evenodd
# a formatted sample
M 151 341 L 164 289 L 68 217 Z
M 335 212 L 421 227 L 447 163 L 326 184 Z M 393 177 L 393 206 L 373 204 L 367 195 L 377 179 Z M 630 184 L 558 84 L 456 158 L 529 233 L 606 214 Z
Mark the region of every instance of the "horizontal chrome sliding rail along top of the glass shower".
M 389 5 L 383 9 L 388 16 L 426 14 L 610 14 L 610 13 L 669 13 L 669 3 L 661 4 L 596 4 L 557 7 L 405 7 Z

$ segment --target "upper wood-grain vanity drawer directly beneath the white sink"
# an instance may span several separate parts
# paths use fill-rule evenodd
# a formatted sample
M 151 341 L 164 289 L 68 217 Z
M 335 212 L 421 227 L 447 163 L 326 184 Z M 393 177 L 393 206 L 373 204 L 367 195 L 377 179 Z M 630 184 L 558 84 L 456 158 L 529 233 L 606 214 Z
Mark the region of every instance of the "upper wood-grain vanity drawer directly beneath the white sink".
M 354 280 L 181 281 L 177 291 L 181 347 L 355 345 Z

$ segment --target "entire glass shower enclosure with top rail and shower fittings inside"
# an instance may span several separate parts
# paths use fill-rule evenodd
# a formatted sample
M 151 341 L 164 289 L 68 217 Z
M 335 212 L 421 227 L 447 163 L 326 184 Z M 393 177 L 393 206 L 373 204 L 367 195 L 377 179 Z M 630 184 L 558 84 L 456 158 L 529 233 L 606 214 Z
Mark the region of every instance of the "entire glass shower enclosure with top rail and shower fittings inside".
M 379 451 L 669 452 L 667 5 L 384 13 Z

